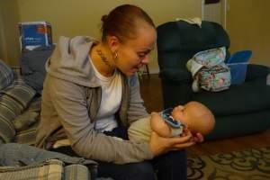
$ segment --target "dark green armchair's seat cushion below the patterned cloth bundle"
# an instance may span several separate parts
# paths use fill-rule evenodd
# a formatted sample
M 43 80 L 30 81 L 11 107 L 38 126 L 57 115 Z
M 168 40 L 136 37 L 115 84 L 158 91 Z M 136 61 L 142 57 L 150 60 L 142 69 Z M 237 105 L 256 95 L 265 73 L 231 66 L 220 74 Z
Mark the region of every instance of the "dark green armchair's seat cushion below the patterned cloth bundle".
M 193 101 L 207 105 L 215 115 L 233 115 L 247 112 L 259 112 L 270 107 L 270 85 L 266 77 L 231 85 L 229 90 L 211 93 L 191 94 Z

